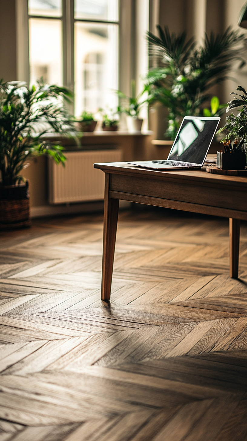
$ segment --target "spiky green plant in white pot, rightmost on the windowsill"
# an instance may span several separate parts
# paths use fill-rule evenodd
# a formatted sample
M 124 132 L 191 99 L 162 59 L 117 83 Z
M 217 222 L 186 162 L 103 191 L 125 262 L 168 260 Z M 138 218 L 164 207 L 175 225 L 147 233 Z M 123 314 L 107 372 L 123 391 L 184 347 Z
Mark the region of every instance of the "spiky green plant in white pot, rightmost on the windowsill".
M 128 131 L 140 131 L 142 128 L 143 119 L 139 118 L 139 113 L 142 106 L 146 103 L 146 100 L 141 100 L 143 96 L 142 91 L 136 97 L 135 95 L 135 80 L 131 81 L 131 97 L 127 97 L 123 92 L 117 90 L 116 93 L 121 98 L 121 100 L 127 101 L 125 105 L 120 106 L 120 111 L 127 115 L 126 122 Z

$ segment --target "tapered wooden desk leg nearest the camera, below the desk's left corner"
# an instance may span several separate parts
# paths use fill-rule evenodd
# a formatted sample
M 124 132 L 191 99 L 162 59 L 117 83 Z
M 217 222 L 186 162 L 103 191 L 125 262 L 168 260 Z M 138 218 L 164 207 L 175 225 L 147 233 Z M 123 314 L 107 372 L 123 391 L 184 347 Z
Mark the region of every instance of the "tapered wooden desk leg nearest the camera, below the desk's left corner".
M 112 269 L 114 261 L 116 227 L 118 218 L 119 199 L 109 198 L 109 173 L 105 173 L 105 206 L 104 206 L 104 236 L 101 300 L 109 300 L 112 286 Z

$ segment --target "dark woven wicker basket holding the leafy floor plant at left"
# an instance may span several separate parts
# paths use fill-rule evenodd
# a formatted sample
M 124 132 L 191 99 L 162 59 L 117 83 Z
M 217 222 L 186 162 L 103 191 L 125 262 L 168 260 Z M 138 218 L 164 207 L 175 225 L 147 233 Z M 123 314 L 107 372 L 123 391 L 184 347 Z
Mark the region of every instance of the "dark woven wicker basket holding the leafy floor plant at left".
M 30 227 L 29 181 L 0 186 L 0 229 Z

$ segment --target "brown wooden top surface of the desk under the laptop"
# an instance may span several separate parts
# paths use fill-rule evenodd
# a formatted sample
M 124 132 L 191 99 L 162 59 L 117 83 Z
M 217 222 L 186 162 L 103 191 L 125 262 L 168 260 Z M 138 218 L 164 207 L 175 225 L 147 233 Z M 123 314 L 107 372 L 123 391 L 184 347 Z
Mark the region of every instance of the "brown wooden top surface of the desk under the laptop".
M 209 158 L 215 155 L 209 155 Z M 206 166 L 201 170 L 152 170 L 150 168 L 141 168 L 135 165 L 127 164 L 126 162 L 108 162 L 102 164 L 94 164 L 94 168 L 100 168 L 103 172 L 113 173 L 119 175 L 145 177 L 146 179 L 157 179 L 163 181 L 190 181 L 198 183 L 210 183 L 217 185 L 240 186 L 247 189 L 246 176 L 225 176 L 213 175 L 206 172 Z

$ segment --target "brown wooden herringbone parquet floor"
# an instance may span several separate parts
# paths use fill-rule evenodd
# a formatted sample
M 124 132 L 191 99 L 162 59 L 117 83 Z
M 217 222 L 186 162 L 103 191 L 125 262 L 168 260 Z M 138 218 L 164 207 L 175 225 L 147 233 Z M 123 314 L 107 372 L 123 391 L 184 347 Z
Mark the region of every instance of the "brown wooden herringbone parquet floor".
M 0 233 L 0 441 L 247 440 L 247 224 L 120 213 L 112 299 L 102 215 Z

